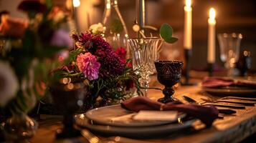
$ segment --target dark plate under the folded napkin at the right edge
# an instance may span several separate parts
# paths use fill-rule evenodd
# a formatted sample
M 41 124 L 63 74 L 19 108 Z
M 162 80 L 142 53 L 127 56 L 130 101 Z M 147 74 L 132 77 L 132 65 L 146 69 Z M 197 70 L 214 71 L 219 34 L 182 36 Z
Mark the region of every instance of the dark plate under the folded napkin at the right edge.
M 229 96 L 246 96 L 246 95 L 255 95 L 256 89 L 249 89 L 243 87 L 224 87 L 224 88 L 208 88 L 202 87 L 205 92 L 210 94 L 217 94 L 219 96 L 229 95 Z

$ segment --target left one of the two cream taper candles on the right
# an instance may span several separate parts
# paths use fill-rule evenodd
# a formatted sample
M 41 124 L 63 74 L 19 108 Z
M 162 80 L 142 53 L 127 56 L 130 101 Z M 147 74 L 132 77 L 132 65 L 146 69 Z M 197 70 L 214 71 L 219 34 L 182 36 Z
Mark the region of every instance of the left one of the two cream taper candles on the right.
M 184 6 L 184 49 L 192 48 L 192 8 L 191 0 L 186 0 Z

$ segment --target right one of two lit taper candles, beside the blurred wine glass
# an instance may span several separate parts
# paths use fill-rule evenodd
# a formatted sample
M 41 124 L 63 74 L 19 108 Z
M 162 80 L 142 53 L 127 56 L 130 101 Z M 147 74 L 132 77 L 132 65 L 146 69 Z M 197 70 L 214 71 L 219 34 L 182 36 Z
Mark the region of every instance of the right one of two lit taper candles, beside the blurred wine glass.
M 208 19 L 208 51 L 207 51 L 207 61 L 210 64 L 215 62 L 215 10 L 211 8 L 209 10 Z

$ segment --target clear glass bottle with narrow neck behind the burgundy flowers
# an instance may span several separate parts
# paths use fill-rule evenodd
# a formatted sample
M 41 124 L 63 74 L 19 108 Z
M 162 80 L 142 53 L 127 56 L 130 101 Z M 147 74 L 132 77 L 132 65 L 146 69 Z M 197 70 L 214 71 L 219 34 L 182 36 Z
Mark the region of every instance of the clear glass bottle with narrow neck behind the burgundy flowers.
M 103 36 L 113 49 L 122 46 L 127 51 L 128 30 L 118 9 L 118 0 L 105 0 L 103 26 L 105 31 Z

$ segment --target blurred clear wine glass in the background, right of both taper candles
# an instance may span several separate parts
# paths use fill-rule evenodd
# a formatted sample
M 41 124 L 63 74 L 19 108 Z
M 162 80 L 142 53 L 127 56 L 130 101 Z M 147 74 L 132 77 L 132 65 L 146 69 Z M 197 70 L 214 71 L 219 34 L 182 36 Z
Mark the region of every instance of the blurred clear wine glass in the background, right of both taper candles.
M 220 59 L 225 62 L 224 66 L 228 69 L 227 76 L 232 77 L 235 63 L 239 59 L 242 34 L 218 34 L 218 39 Z

